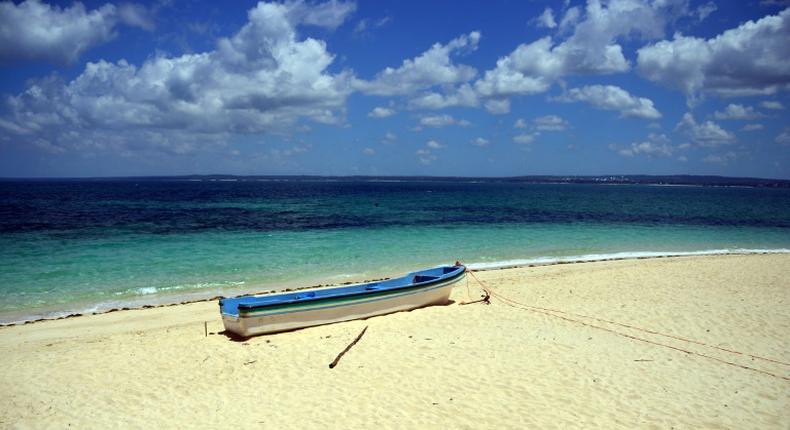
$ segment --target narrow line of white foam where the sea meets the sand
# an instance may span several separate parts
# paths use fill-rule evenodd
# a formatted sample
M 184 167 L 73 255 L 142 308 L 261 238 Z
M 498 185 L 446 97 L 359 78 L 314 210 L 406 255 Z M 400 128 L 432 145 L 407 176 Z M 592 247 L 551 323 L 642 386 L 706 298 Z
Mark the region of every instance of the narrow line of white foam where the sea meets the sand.
M 777 254 L 790 254 L 790 249 L 735 248 L 735 249 L 711 249 L 711 250 L 703 250 L 703 251 L 678 251 L 678 252 L 653 252 L 653 251 L 616 252 L 609 254 L 587 254 L 587 255 L 576 255 L 576 256 L 568 256 L 568 257 L 536 257 L 532 259 L 504 260 L 504 261 L 491 262 L 491 263 L 470 263 L 467 265 L 467 268 L 473 272 L 485 272 L 485 271 L 503 270 L 503 269 L 519 269 L 519 268 L 529 268 L 529 267 L 555 266 L 555 265 L 564 265 L 564 264 L 583 264 L 583 263 L 596 263 L 596 262 L 607 262 L 607 261 L 650 260 L 650 259 L 663 259 L 663 258 L 689 258 L 689 257 L 707 257 L 707 256 L 730 256 L 730 255 L 732 256 L 777 255 Z M 174 301 L 168 300 L 169 297 L 163 295 L 159 297 L 160 299 L 159 302 L 154 301 L 149 303 L 141 303 L 141 300 L 136 300 L 136 301 L 130 300 L 129 302 L 125 303 L 122 306 L 112 307 L 109 309 L 102 309 L 102 310 L 90 310 L 100 305 L 99 303 L 99 304 L 94 304 L 92 308 L 88 308 L 88 310 L 85 311 L 74 311 L 74 312 L 62 311 L 61 312 L 62 314 L 59 315 L 56 314 L 56 316 L 51 316 L 51 317 L 34 315 L 29 319 L 3 322 L 0 323 L 0 329 L 6 327 L 41 323 L 46 321 L 58 321 L 64 319 L 85 317 L 89 315 L 103 315 L 103 314 L 130 311 L 130 310 L 165 308 L 165 307 L 172 307 L 179 305 L 188 305 L 192 303 L 211 302 L 226 297 L 276 294 L 280 292 L 301 291 L 301 290 L 311 290 L 317 288 L 336 287 L 342 285 L 362 284 L 368 282 L 382 281 L 385 279 L 389 279 L 389 278 L 380 277 L 380 278 L 371 278 L 371 279 L 363 279 L 363 280 L 352 280 L 352 281 L 336 283 L 336 284 L 330 283 L 330 284 L 317 284 L 317 285 L 309 285 L 309 286 L 294 286 L 294 287 L 288 287 L 283 289 L 270 289 L 270 290 L 250 289 L 248 291 L 245 291 L 244 289 L 238 289 L 236 290 L 237 292 L 238 291 L 242 291 L 242 292 L 238 294 L 232 294 L 229 296 L 212 295 L 210 293 L 207 293 L 205 294 L 206 297 L 200 297 L 201 296 L 200 292 L 194 292 L 193 294 L 190 295 L 197 296 L 198 298 L 183 300 L 184 297 L 187 297 L 189 295 L 174 295 L 170 297 L 170 299 Z M 137 303 L 130 304 L 135 302 Z M 58 312 L 58 311 L 54 311 L 54 312 Z

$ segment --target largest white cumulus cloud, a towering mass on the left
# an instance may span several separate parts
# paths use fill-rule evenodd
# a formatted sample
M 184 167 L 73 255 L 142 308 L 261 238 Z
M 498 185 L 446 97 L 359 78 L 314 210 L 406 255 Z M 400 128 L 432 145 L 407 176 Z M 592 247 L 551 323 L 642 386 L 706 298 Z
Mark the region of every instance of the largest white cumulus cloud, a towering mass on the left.
M 352 77 L 328 73 L 333 56 L 325 43 L 300 40 L 295 25 L 288 4 L 259 3 L 214 51 L 157 56 L 139 67 L 88 63 L 70 82 L 40 80 L 8 97 L 4 118 L 28 142 L 175 153 L 231 133 L 283 130 L 301 118 L 338 123 Z

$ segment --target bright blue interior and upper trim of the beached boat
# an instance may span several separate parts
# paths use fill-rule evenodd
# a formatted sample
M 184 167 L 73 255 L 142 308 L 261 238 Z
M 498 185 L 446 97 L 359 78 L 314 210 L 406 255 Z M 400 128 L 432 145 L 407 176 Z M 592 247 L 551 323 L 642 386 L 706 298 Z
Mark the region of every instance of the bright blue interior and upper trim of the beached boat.
M 298 303 L 319 302 L 323 300 L 336 300 L 338 298 L 350 298 L 351 296 L 364 297 L 369 294 L 380 294 L 398 290 L 419 290 L 425 291 L 424 287 L 433 284 L 444 283 L 463 275 L 466 268 L 464 266 L 440 266 L 432 269 L 421 270 L 409 273 L 406 276 L 389 279 L 381 282 L 369 282 L 366 284 L 349 285 L 337 288 L 327 288 L 322 290 L 299 291 L 292 293 L 270 294 L 264 296 L 242 296 L 219 301 L 220 310 L 223 315 L 232 317 L 239 316 L 239 310 L 244 312 L 254 312 L 257 309 L 274 307 Z M 399 294 L 387 294 L 383 298 L 399 296 Z M 359 302 L 349 302 L 337 306 L 348 306 Z M 293 311 L 298 311 L 294 309 Z

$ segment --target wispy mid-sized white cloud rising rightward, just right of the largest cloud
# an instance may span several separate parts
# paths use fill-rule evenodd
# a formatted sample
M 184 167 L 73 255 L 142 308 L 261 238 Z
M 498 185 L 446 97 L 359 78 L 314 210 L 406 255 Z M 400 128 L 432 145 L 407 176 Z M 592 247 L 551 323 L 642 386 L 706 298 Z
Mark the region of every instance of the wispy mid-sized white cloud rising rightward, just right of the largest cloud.
M 471 66 L 455 65 L 451 54 L 477 49 L 480 33 L 473 31 L 450 41 L 447 45 L 434 44 L 414 59 L 403 61 L 400 67 L 387 67 L 371 81 L 357 80 L 355 87 L 379 96 L 408 95 L 433 87 L 468 82 L 477 74 Z

